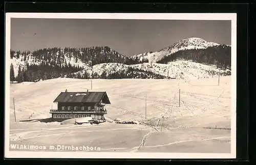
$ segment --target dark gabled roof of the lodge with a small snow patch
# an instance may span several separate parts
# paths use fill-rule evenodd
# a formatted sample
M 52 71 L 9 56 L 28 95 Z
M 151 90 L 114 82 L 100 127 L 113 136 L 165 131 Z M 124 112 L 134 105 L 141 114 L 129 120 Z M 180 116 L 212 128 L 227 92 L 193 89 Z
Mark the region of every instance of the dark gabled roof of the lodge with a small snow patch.
M 61 92 L 53 102 L 100 102 L 110 104 L 106 92 Z

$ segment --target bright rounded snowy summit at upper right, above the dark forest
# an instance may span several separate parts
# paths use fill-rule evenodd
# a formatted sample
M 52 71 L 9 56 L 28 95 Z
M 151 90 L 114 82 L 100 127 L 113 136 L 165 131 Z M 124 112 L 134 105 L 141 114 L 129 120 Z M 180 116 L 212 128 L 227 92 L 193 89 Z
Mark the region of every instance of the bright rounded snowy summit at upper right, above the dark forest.
M 134 56 L 130 57 L 130 59 L 139 59 L 139 61 L 148 60 L 150 63 L 156 63 L 162 58 L 169 56 L 179 50 L 185 49 L 205 49 L 211 46 L 218 46 L 220 44 L 214 42 L 208 42 L 201 38 L 191 37 L 188 39 L 180 40 L 168 47 L 165 47 L 161 50 L 155 52 L 144 52 L 140 54 L 135 54 Z

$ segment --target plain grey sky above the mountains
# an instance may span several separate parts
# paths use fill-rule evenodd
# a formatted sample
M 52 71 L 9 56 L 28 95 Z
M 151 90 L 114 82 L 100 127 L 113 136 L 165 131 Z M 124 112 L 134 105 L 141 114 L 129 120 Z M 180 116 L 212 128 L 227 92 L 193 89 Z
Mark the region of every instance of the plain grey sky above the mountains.
M 15 51 L 109 46 L 130 57 L 190 37 L 231 45 L 231 21 L 11 18 Z

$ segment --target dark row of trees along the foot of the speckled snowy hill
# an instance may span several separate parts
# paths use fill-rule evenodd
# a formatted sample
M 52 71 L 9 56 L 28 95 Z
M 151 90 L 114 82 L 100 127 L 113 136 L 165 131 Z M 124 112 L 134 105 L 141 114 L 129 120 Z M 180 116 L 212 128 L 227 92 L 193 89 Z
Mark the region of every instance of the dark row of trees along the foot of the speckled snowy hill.
M 97 72 L 93 72 L 89 74 L 86 70 L 83 71 L 83 73 L 70 73 L 67 75 L 67 78 L 78 78 L 78 79 L 122 79 L 122 78 L 143 78 L 143 79 L 164 79 L 169 78 L 165 77 L 160 74 L 156 74 L 151 71 L 145 71 L 138 68 L 132 68 L 129 67 L 127 70 L 120 70 L 112 73 L 107 73 L 106 71 L 103 71 L 101 74 Z

